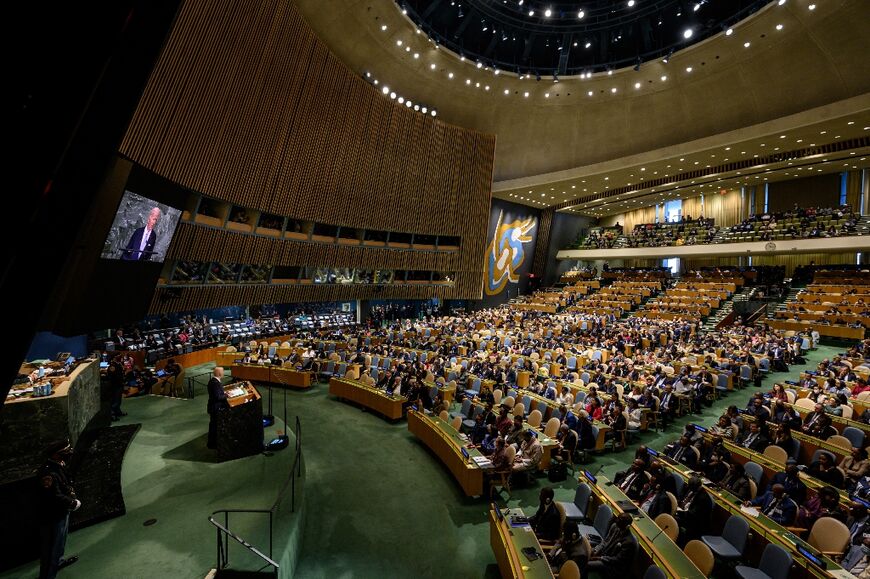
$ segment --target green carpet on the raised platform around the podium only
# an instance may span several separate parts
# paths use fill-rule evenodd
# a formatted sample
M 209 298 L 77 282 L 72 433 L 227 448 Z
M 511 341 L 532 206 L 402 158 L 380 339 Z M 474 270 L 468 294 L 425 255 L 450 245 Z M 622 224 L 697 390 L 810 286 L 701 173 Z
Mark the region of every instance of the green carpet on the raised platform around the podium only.
M 222 508 L 269 508 L 289 472 L 289 450 L 226 463 L 214 462 L 206 448 L 206 398 L 194 400 L 146 396 L 124 400 L 128 413 L 115 424 L 141 423 L 124 459 L 121 484 L 127 514 L 71 533 L 67 555 L 79 561 L 60 572 L 67 579 L 205 577 L 215 566 L 215 530 L 207 517 Z M 267 438 L 283 425 L 267 429 Z M 289 507 L 282 505 L 276 554 L 292 532 Z M 246 515 L 250 517 L 250 515 Z M 157 519 L 143 526 L 148 519 Z M 241 516 L 232 528 L 268 550 L 268 527 Z M 231 562 L 252 564 L 241 547 L 231 547 Z M 256 567 L 253 567 L 256 568 Z M 0 574 L 2 578 L 33 578 L 39 563 Z

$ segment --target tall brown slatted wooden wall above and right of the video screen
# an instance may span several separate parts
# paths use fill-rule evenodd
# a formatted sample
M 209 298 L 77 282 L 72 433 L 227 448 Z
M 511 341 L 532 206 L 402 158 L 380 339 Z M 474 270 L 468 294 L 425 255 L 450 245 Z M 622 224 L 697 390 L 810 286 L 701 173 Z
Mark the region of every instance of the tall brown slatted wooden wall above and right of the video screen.
M 121 153 L 184 187 L 261 211 L 462 239 L 455 256 L 411 257 L 182 225 L 173 257 L 432 266 L 457 273 L 450 297 L 481 296 L 495 137 L 385 98 L 330 53 L 291 2 L 185 2 Z

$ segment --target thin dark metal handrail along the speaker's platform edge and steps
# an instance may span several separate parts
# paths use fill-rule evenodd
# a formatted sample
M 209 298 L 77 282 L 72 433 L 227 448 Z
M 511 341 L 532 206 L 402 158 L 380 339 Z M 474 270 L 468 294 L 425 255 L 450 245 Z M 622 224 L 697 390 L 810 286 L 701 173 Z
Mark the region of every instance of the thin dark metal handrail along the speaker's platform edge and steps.
M 286 428 L 287 425 L 285 424 Z M 296 511 L 296 479 L 302 476 L 302 427 L 299 422 L 299 417 L 296 417 L 296 445 L 294 448 L 294 456 L 293 456 L 293 465 L 290 467 L 290 476 L 287 477 L 287 480 L 281 487 L 281 490 L 278 492 L 278 496 L 275 499 L 275 502 L 272 503 L 272 506 L 268 509 L 219 509 L 211 514 L 208 518 L 209 523 L 211 523 L 217 532 L 217 569 L 220 571 L 221 569 L 226 569 L 229 566 L 229 558 L 230 558 L 230 539 L 240 544 L 245 548 L 249 553 L 256 556 L 260 559 L 264 564 L 257 569 L 257 571 L 263 571 L 266 568 L 273 568 L 275 574 L 280 570 L 280 565 L 275 562 L 273 558 L 273 522 L 275 518 L 275 513 L 278 511 L 278 507 L 281 505 L 282 501 L 285 499 L 287 490 L 290 490 L 290 512 Z M 269 554 L 266 555 L 262 552 L 262 550 L 258 549 L 248 541 L 246 541 L 243 537 L 239 536 L 237 533 L 234 533 L 230 528 L 230 514 L 232 513 L 244 513 L 244 514 L 256 514 L 256 515 L 268 515 L 269 518 Z M 223 524 L 218 522 L 215 519 L 215 516 L 223 515 Z

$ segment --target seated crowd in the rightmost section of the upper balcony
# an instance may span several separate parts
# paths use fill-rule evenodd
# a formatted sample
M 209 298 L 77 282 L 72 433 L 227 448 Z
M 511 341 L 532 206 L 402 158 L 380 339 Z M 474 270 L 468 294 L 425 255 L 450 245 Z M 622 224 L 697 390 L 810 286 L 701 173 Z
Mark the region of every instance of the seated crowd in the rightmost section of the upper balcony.
M 818 237 L 838 237 L 856 235 L 859 215 L 851 207 L 798 207 L 778 213 L 764 212 L 753 215 L 741 223 L 728 228 L 728 238 L 751 236 L 760 241 L 773 239 L 811 239 Z

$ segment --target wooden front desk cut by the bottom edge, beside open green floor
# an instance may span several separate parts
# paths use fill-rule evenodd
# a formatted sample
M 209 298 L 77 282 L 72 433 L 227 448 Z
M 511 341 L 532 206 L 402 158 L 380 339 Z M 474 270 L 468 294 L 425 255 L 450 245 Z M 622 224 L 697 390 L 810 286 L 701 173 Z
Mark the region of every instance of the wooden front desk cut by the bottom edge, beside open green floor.
M 544 554 L 528 523 L 515 525 L 510 522 L 513 515 L 525 516 L 523 510 L 503 509 L 501 512 L 504 515 L 499 517 L 495 510 L 489 509 L 489 542 L 502 578 L 553 579 L 554 575 L 546 557 L 529 561 L 523 554 L 522 550 L 526 547 Z

